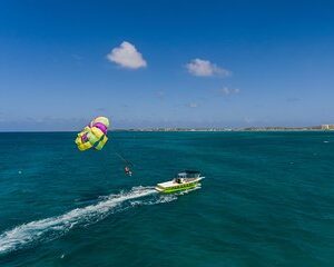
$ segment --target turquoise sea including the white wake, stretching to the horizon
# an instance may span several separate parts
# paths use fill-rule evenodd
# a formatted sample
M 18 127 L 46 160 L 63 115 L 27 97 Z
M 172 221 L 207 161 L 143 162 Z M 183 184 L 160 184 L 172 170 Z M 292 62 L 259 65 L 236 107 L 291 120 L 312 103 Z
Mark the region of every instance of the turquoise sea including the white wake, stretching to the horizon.
M 0 134 L 1 267 L 334 266 L 334 132 L 110 134 Z

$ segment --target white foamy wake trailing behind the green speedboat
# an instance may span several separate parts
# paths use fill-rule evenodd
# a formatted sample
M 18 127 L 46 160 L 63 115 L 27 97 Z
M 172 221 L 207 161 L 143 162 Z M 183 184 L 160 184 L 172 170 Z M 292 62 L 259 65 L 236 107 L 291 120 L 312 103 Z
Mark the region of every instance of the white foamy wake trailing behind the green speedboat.
M 95 224 L 114 212 L 136 206 L 169 202 L 175 199 L 177 199 L 176 195 L 159 195 L 153 187 L 134 187 L 127 192 L 109 195 L 95 205 L 23 224 L 2 233 L 0 235 L 0 256 L 33 246 L 33 244 L 59 238 L 75 227 Z

